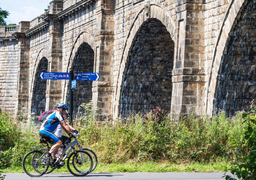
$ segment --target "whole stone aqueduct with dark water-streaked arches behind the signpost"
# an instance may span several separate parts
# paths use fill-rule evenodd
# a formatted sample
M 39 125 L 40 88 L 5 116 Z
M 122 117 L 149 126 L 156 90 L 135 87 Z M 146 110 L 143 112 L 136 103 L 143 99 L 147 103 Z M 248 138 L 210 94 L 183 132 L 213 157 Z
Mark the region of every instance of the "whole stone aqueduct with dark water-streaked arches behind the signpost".
M 39 114 L 67 102 L 68 81 L 39 74 L 98 72 L 78 82 L 118 117 L 161 108 L 210 115 L 256 98 L 255 0 L 64 0 L 31 21 L 0 27 L 0 108 Z

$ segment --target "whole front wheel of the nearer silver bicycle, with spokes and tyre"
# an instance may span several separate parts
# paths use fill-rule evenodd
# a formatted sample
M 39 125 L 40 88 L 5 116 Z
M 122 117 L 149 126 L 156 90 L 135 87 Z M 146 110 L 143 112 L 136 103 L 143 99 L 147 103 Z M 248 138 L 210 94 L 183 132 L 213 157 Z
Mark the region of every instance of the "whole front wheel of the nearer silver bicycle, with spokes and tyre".
M 72 152 L 67 160 L 67 167 L 74 176 L 86 176 L 92 170 L 92 156 L 82 150 Z

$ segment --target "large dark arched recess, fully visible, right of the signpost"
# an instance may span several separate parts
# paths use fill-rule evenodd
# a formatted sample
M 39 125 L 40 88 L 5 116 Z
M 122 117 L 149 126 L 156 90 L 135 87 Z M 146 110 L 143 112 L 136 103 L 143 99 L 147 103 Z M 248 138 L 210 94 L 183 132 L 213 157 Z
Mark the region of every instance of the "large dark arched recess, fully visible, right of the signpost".
M 151 18 L 134 37 L 125 64 L 119 116 L 148 112 L 156 106 L 170 110 L 174 42 L 161 21 Z

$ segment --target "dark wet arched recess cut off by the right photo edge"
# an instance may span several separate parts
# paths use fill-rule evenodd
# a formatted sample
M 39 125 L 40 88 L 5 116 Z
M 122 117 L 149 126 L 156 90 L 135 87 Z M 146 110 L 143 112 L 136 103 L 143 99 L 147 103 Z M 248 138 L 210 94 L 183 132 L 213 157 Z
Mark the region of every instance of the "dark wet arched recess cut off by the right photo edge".
M 249 111 L 250 101 L 256 98 L 256 33 L 255 4 L 248 0 L 233 23 L 221 58 L 213 100 L 213 109 Z

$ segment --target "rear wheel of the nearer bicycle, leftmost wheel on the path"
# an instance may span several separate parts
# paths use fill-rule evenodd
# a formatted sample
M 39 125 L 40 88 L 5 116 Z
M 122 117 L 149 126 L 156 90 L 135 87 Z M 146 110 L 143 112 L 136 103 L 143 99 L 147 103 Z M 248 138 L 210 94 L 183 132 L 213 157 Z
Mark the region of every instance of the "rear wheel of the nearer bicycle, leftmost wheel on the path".
M 22 168 L 26 174 L 31 177 L 43 176 L 48 169 L 48 165 L 43 164 L 42 151 L 30 151 L 25 155 L 22 161 Z

